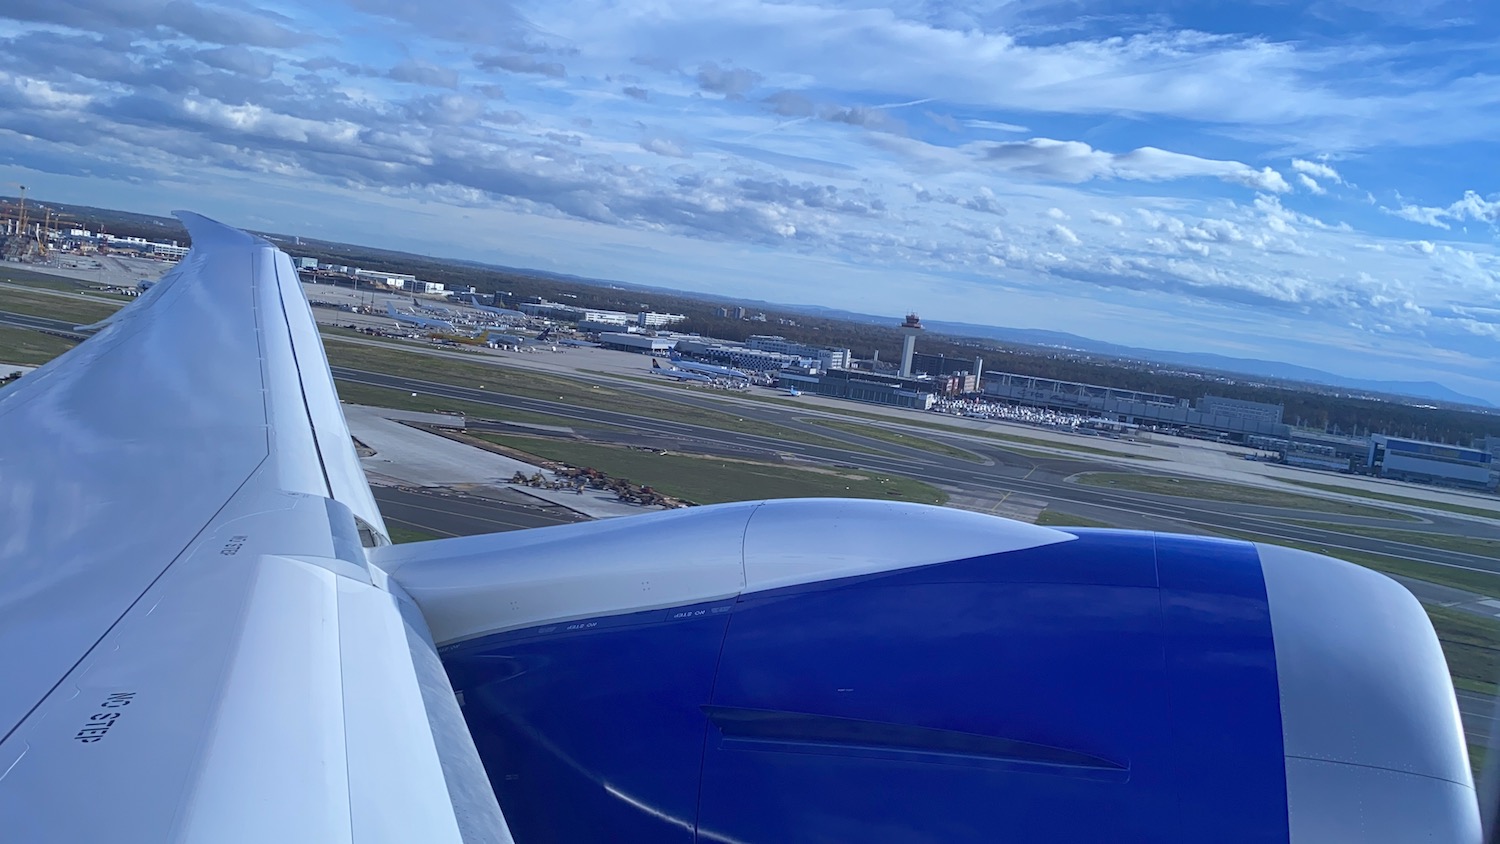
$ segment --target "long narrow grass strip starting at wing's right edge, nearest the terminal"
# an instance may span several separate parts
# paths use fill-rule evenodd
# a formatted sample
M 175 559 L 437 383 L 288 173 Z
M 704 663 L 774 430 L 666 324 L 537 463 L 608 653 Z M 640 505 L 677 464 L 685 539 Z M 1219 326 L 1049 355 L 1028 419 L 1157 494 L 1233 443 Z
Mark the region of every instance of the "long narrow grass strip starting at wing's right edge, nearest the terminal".
M 801 430 L 777 424 L 746 420 L 734 415 L 730 411 L 711 411 L 693 405 L 682 405 L 669 399 L 642 396 L 639 393 L 624 393 L 612 387 L 588 384 L 573 378 L 492 366 L 480 361 L 468 363 L 422 352 L 345 343 L 338 337 L 328 339 L 333 340 L 327 343 L 328 361 L 334 366 L 358 367 L 400 378 L 420 378 L 456 387 L 478 388 L 483 385 L 486 390 L 508 396 L 566 402 L 582 408 L 634 414 L 684 424 L 698 424 L 717 430 L 758 433 L 790 442 L 806 442 L 808 445 L 822 445 L 852 451 L 874 451 L 873 448 L 864 448 L 832 438 L 818 436 L 816 433 L 804 433 Z

